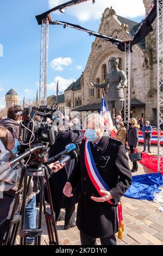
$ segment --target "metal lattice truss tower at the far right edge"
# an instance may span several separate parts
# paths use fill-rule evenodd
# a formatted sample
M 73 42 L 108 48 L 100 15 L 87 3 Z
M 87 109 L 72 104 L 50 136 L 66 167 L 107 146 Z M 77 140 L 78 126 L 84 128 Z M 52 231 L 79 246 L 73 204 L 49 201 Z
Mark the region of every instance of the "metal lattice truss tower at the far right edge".
M 156 24 L 156 41 L 157 41 L 157 89 L 158 89 L 158 172 L 162 171 L 163 148 L 161 140 L 163 135 L 160 134 L 163 125 L 163 1 L 157 0 L 157 24 Z

